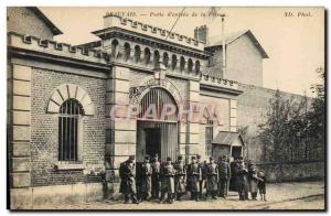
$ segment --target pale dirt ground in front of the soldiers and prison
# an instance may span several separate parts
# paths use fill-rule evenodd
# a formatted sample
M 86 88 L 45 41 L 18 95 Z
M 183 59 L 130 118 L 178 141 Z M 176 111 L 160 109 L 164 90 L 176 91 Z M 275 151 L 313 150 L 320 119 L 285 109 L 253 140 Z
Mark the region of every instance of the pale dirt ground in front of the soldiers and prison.
M 250 195 L 249 195 L 250 196 Z M 180 201 L 173 204 L 159 204 L 143 202 L 137 204 L 124 204 L 122 201 L 100 201 L 94 203 L 81 203 L 75 205 L 44 206 L 45 209 L 324 209 L 324 182 L 306 183 L 279 183 L 267 185 L 267 202 L 238 201 L 235 192 L 229 192 L 227 199 L 216 201 Z

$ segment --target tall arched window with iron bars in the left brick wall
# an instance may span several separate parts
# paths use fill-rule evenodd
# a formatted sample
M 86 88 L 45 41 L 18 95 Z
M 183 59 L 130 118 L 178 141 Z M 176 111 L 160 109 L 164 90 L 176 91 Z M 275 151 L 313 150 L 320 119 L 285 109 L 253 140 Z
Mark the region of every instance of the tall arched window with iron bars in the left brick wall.
M 82 105 L 67 99 L 60 107 L 58 116 L 58 161 L 78 161 L 79 117 Z

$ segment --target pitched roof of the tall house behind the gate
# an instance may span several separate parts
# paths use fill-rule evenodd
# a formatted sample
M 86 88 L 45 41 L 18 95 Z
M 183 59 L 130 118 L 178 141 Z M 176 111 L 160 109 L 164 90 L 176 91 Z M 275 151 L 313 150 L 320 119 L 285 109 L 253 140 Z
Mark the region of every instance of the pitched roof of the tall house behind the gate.
M 226 45 L 231 44 L 232 42 L 236 41 L 237 39 L 239 39 L 243 35 L 247 35 L 250 39 L 250 41 L 253 42 L 255 47 L 258 50 L 258 52 L 260 53 L 263 58 L 269 57 L 268 54 L 266 53 L 266 51 L 263 48 L 263 46 L 257 41 L 257 39 L 255 37 L 255 35 L 252 33 L 250 30 L 242 30 L 242 31 L 232 32 L 232 33 L 226 34 L 225 35 L 225 44 Z M 222 41 L 223 41 L 222 35 L 212 36 L 209 39 L 209 44 L 205 47 L 221 46 Z

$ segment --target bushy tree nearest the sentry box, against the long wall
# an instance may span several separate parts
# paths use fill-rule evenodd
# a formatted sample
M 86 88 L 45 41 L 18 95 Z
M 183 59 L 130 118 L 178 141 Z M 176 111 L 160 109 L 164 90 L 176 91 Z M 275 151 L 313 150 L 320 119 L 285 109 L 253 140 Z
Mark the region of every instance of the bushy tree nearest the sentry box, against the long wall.
M 258 126 L 258 138 L 263 143 L 263 160 L 280 162 L 292 160 L 303 134 L 302 112 L 305 100 L 285 98 L 277 89 L 269 100 L 266 121 Z

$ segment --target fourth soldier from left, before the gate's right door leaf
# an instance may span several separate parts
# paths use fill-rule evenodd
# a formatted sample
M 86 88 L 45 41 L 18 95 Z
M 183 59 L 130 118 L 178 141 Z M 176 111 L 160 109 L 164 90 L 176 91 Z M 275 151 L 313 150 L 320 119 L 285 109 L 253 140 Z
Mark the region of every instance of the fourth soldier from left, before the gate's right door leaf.
M 161 203 L 164 203 L 164 195 L 167 193 L 167 202 L 173 203 L 174 197 L 174 174 L 175 170 L 171 163 L 171 158 L 167 158 L 167 163 L 162 168 L 162 195 L 161 195 Z

